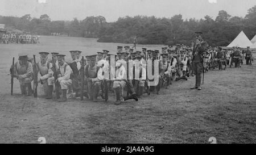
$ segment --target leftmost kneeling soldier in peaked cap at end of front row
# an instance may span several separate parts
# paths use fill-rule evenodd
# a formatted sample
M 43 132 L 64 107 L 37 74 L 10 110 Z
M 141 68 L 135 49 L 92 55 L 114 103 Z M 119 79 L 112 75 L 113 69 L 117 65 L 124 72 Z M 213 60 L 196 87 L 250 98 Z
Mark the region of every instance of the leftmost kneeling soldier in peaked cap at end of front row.
M 33 80 L 32 64 L 28 62 L 27 53 L 19 53 L 19 61 L 12 66 L 13 77 L 18 78 L 22 95 L 32 95 L 31 81 Z

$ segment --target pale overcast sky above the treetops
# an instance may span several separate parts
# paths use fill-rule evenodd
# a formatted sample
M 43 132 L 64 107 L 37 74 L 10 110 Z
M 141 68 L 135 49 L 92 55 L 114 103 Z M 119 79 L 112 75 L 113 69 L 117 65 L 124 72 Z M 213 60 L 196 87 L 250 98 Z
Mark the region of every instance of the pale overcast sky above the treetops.
M 44 0 L 40 0 L 44 1 Z M 209 3 L 217 1 L 217 3 Z M 216 18 L 218 11 L 225 10 L 232 16 L 247 14 L 256 5 L 256 0 L 0 0 L 0 15 L 22 16 L 31 14 L 39 18 L 48 14 L 52 20 L 85 19 L 86 16 L 105 16 L 107 22 L 114 22 L 126 15 L 154 15 L 170 18 L 175 14 L 183 19 Z

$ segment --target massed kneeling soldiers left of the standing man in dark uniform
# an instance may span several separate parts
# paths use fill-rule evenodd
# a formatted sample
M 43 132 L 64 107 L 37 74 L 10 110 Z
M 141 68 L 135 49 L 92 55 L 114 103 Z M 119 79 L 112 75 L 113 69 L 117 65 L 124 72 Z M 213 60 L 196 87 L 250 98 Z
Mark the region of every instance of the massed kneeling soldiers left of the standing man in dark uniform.
M 58 85 L 62 94 L 60 102 L 79 97 L 81 94 L 95 102 L 98 96 L 107 100 L 108 91 L 114 91 L 116 104 L 119 104 L 122 100 L 138 100 L 143 93 L 150 94 L 156 91 L 156 94 L 159 94 L 161 87 L 167 89 L 171 81 L 187 80 L 186 76 L 189 76 L 189 68 L 187 68 L 189 57 L 183 51 L 180 51 L 181 54 L 178 56 L 176 51 L 168 50 L 167 47 L 163 47 L 160 53 L 158 50 L 142 48 L 142 51 L 133 51 L 132 48 L 123 49 L 118 46 L 116 55 L 103 50 L 97 52 L 97 55 L 86 56 L 85 60 L 81 58 L 81 51 L 70 51 L 70 53 L 72 62 L 66 62 L 65 55 L 59 53 L 51 53 L 52 60 L 49 60 L 48 52 L 40 52 L 40 61 L 37 63 L 29 60 L 26 53 L 20 53 L 19 61 L 11 68 L 11 74 L 18 78 L 22 94 L 32 95 L 31 82 L 35 81 L 36 75 L 38 76 L 36 82 L 42 83 L 44 87 L 46 99 L 52 99 L 53 85 L 55 87 Z M 152 61 L 153 75 L 154 62 L 157 62 L 157 77 L 148 77 L 148 60 Z M 114 66 L 110 65 L 110 61 L 114 62 Z M 109 76 L 105 76 L 106 74 Z M 154 78 L 158 78 L 155 83 Z M 81 90 L 82 82 L 85 85 L 84 90 Z M 55 91 L 59 90 L 55 89 Z M 126 94 L 123 93 L 124 91 Z

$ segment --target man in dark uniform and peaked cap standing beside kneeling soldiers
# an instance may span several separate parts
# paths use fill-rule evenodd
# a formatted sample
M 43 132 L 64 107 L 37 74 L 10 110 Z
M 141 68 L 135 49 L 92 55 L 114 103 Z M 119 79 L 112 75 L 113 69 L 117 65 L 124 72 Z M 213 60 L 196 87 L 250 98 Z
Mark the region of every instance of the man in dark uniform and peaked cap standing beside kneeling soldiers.
M 202 79 L 202 73 L 203 73 L 203 55 L 205 52 L 205 49 L 207 48 L 207 43 L 203 40 L 201 35 L 202 32 L 195 32 L 196 33 L 196 44 L 194 45 L 193 50 L 193 64 L 194 64 L 194 70 L 196 74 L 196 85 L 192 87 L 191 89 L 201 89 L 201 79 Z

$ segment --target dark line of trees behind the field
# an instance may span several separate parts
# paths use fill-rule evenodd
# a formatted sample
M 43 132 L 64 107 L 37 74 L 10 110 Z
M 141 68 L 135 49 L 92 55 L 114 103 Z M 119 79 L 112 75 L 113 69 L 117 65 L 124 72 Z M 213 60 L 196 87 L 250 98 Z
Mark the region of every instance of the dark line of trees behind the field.
M 48 15 L 31 18 L 27 14 L 20 18 L 0 16 L 0 23 L 7 27 L 38 35 L 61 33 L 67 36 L 94 37 L 99 42 L 138 44 L 190 44 L 195 31 L 202 31 L 204 39 L 213 46 L 228 45 L 241 31 L 252 39 L 256 34 L 256 6 L 247 11 L 245 18 L 231 16 L 221 10 L 216 19 L 206 15 L 203 19 L 183 19 L 182 15 L 171 18 L 155 16 L 125 16 L 117 22 L 106 22 L 104 16 L 88 16 L 84 20 L 52 21 Z

